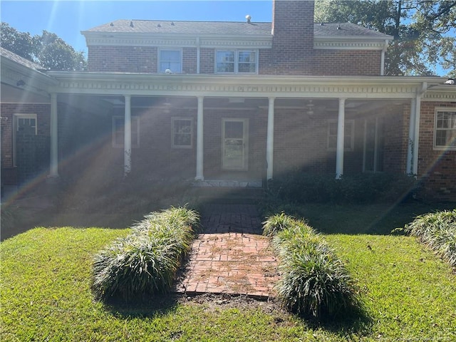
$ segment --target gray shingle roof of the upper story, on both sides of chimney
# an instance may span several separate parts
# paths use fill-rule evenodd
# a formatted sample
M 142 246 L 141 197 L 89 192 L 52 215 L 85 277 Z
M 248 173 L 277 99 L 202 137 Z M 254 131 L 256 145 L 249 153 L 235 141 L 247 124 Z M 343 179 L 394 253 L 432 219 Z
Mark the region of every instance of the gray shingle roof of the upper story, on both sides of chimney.
M 271 36 L 271 23 L 251 24 L 246 21 L 159 21 L 125 20 L 90 28 L 85 32 L 105 33 L 162 33 L 162 34 L 207 34 L 223 36 Z M 340 29 L 338 29 L 340 27 Z M 315 24 L 316 37 L 388 38 L 387 35 L 355 24 Z

